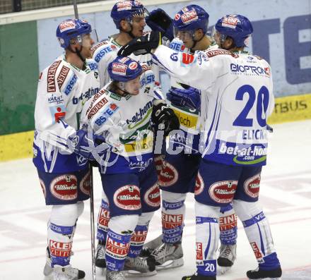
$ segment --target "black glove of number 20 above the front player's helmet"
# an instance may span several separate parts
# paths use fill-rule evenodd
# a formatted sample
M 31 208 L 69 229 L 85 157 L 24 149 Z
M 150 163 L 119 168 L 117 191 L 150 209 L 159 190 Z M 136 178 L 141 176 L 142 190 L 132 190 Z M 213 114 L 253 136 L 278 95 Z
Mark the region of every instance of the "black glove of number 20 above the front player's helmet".
M 131 53 L 150 54 L 151 49 L 156 49 L 162 42 L 161 33 L 151 31 L 146 35 L 132 39 L 118 51 L 118 56 L 129 56 Z

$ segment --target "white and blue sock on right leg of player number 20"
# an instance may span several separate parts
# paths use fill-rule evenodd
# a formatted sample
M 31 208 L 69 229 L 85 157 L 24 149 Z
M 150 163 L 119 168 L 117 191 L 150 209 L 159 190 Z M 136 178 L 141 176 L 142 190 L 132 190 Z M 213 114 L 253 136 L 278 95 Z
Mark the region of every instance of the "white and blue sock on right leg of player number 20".
M 259 263 L 259 268 L 271 270 L 280 267 L 269 222 L 262 212 L 259 202 L 234 200 L 233 207 L 242 221 L 248 241 Z

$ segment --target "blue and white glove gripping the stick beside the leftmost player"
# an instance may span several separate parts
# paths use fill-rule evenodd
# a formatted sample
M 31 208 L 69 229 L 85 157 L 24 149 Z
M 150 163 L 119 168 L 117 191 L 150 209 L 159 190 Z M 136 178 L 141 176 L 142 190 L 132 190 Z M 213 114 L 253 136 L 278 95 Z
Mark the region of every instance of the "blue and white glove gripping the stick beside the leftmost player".
M 69 136 L 67 145 L 72 152 L 80 154 L 86 159 L 95 160 L 92 152 L 95 150 L 95 147 L 103 142 L 105 142 L 105 138 L 102 136 L 88 133 L 87 130 L 79 129 L 76 133 Z

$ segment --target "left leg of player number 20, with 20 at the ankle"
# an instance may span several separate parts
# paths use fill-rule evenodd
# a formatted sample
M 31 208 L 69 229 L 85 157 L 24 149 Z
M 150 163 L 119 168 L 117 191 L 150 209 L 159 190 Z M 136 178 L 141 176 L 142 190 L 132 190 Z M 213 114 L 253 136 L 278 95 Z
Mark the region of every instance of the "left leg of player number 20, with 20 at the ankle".
M 216 279 L 220 209 L 233 200 L 240 172 L 240 167 L 202 159 L 194 193 L 196 200 L 196 274 L 183 279 Z

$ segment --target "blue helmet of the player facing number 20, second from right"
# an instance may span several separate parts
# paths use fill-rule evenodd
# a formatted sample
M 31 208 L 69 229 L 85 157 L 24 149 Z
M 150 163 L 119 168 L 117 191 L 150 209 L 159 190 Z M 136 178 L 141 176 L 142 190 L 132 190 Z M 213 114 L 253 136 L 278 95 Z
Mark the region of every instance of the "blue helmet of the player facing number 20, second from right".
M 195 31 L 203 30 L 204 34 L 209 27 L 209 13 L 198 5 L 189 5 L 182 8 L 175 14 L 174 35 L 176 37 L 178 31 Z

